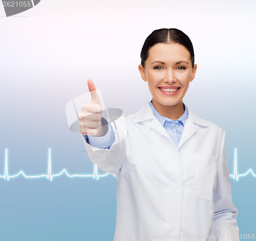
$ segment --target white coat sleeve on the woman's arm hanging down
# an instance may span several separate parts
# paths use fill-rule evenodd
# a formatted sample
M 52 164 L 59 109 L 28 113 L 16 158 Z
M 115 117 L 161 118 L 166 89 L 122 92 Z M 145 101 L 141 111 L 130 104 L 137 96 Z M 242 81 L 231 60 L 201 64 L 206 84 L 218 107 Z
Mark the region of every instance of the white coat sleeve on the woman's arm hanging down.
M 239 228 L 236 220 L 238 209 L 231 199 L 230 177 L 224 142 L 225 131 L 222 134 L 221 151 L 218 160 L 217 185 L 214 192 L 215 214 L 212 230 L 217 237 L 216 241 L 239 241 Z

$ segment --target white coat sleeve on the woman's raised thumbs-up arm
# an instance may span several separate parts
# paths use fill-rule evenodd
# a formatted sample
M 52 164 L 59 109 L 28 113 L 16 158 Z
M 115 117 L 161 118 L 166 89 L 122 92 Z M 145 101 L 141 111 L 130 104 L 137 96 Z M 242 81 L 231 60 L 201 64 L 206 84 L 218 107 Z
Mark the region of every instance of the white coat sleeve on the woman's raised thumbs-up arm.
M 82 139 L 91 161 L 102 171 L 118 177 L 126 155 L 125 139 L 127 137 L 127 128 L 124 116 L 122 115 L 116 121 L 110 123 L 110 125 L 115 132 L 115 141 L 110 149 L 92 147 L 84 140 L 83 136 Z

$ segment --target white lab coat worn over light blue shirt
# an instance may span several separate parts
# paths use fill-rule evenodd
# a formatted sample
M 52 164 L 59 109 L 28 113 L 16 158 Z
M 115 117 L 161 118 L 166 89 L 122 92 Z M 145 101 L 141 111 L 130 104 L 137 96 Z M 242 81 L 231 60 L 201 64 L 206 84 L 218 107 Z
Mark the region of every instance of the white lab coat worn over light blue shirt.
M 110 149 L 84 144 L 91 161 L 117 177 L 114 241 L 238 241 L 225 132 L 195 115 L 175 146 L 149 102 L 111 123 Z

